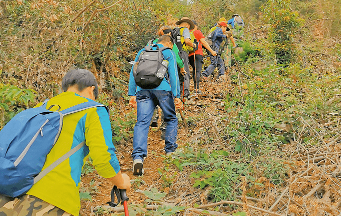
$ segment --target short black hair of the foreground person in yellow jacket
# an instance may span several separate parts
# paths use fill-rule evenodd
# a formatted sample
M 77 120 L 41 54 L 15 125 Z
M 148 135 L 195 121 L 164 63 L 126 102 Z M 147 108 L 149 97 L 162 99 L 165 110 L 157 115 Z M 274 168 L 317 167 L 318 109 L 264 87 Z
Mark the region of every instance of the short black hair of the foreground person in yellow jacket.
M 78 91 L 82 91 L 86 87 L 94 86 L 94 98 L 98 97 L 98 85 L 94 75 L 86 69 L 70 69 L 61 81 L 61 88 L 67 91 L 70 86 L 77 85 Z

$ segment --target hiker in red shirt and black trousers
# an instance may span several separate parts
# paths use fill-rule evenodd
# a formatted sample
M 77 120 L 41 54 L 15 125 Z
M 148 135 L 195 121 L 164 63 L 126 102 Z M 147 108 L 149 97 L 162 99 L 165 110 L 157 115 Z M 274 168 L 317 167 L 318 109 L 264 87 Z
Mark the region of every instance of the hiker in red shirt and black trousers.
M 189 61 L 190 66 L 192 66 L 193 68 L 192 77 L 194 80 L 194 93 L 200 94 L 201 92 L 199 91 L 199 79 L 200 79 L 200 73 L 201 73 L 201 68 L 203 64 L 202 46 L 205 47 L 210 53 L 212 53 L 213 56 L 216 56 L 217 54 L 208 45 L 201 31 L 197 29 L 196 21 L 194 20 L 192 21 L 194 23 L 194 28 L 190 29 L 190 31 L 193 32 L 195 39 L 198 41 L 198 49 L 195 51 L 195 55 L 194 55 L 194 52 L 189 52 L 188 61 Z M 195 65 L 194 65 L 194 56 L 195 56 Z M 196 72 L 196 74 L 194 71 Z

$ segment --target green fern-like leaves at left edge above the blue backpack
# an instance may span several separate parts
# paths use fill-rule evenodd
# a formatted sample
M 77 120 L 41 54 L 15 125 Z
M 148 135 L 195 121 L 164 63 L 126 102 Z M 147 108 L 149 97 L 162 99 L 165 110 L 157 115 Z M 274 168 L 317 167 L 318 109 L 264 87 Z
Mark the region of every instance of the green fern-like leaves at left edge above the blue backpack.
M 29 102 L 34 101 L 34 93 L 32 89 L 20 89 L 11 84 L 0 83 L 0 129 L 15 114 L 26 109 Z

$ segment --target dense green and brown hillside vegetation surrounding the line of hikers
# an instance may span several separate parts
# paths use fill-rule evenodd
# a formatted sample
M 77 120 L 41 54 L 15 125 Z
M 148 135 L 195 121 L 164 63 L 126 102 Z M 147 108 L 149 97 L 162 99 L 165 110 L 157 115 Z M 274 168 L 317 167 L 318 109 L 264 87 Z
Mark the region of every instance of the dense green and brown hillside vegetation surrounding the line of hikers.
M 182 206 L 238 196 L 246 203 L 248 196 L 262 199 L 258 207 L 271 209 L 287 186 L 284 204 L 272 207 L 280 214 L 338 215 L 340 0 L 0 1 L 0 128 L 20 110 L 57 95 L 63 73 L 75 66 L 96 75 L 103 92 L 99 102 L 112 111 L 114 143 L 131 142 L 134 114 L 120 110 L 127 99 L 127 62 L 161 25 L 188 16 L 206 33 L 219 16 L 234 13 L 245 21 L 245 37 L 237 41 L 243 51 L 234 54 L 230 82 L 207 87 L 223 95 L 222 108 L 189 117 L 200 139 L 186 140 L 178 157 L 165 160 L 159 190 L 191 187 L 203 194 Z M 86 172 L 93 172 L 90 163 Z M 307 197 L 320 182 L 323 192 Z M 94 191 L 93 185 L 81 189 L 84 200 L 91 200 L 91 187 Z M 166 195 L 153 189 L 145 196 L 155 204 Z M 166 216 L 183 209 L 147 214 Z M 247 205 L 218 210 L 253 211 Z

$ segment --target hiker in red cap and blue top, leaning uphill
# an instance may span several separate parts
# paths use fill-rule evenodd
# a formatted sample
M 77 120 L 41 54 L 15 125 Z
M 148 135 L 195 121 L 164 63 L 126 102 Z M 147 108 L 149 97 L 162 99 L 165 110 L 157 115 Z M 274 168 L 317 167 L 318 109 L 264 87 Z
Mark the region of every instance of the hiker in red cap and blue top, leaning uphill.
M 214 30 L 215 32 L 212 35 L 213 44 L 211 46 L 211 48 L 214 51 L 216 51 L 216 52 L 219 51 L 220 43 L 222 42 L 222 40 L 224 38 L 227 37 L 227 35 L 225 34 L 227 29 L 228 28 L 227 28 L 226 22 L 220 22 L 218 27 L 216 27 L 216 29 Z M 205 69 L 205 71 L 203 71 L 201 73 L 201 76 L 203 77 L 203 79 L 207 79 L 207 76 L 209 76 L 214 71 L 214 69 L 217 67 L 218 68 L 217 78 L 219 78 L 219 76 L 223 75 L 225 72 L 224 61 L 221 59 L 220 55 L 213 56 L 209 51 L 207 51 L 207 53 L 209 55 L 209 59 L 210 59 L 211 63 L 210 63 L 210 65 L 208 65 L 208 67 Z

